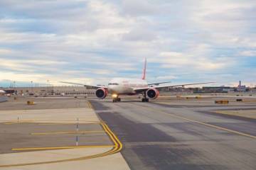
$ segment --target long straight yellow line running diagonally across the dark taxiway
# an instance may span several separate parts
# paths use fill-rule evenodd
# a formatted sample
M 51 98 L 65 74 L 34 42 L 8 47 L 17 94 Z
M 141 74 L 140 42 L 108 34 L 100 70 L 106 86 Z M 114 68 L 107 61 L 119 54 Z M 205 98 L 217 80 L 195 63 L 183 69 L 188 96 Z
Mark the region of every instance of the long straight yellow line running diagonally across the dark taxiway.
M 147 107 L 145 107 L 145 106 L 142 106 L 142 107 L 144 107 L 144 108 L 146 108 L 146 109 L 148 109 L 148 110 L 155 110 L 155 111 L 156 111 L 156 109 L 154 109 L 154 108 L 150 108 L 150 109 L 149 109 L 149 108 L 147 108 Z M 157 110 L 157 111 L 160 111 L 160 110 Z M 236 130 L 230 130 L 230 129 L 222 128 L 222 127 L 216 126 L 216 125 L 210 125 L 210 124 L 208 124 L 208 123 L 203 123 L 203 122 L 200 122 L 200 121 L 198 121 L 198 120 L 193 120 L 193 119 L 185 118 L 185 117 L 180 116 L 180 115 L 174 115 L 174 114 L 171 114 L 171 113 L 165 113 L 164 111 L 161 111 L 161 113 L 163 113 L 163 114 L 165 114 L 165 115 L 172 116 L 172 117 L 174 117 L 174 118 L 180 118 L 180 119 L 183 119 L 183 120 L 188 120 L 188 121 L 190 121 L 190 122 L 198 123 L 198 124 L 200 124 L 200 125 L 206 125 L 206 126 L 208 126 L 208 127 L 216 128 L 216 129 L 218 129 L 218 130 L 225 130 L 225 131 L 227 131 L 227 132 L 233 132 L 233 133 L 238 134 L 238 135 L 242 135 L 242 136 L 246 136 L 246 137 L 252 137 L 252 138 L 256 139 L 256 136 L 249 135 L 249 134 L 246 134 L 246 133 L 243 133 L 243 132 L 238 132 L 238 131 L 236 131 Z

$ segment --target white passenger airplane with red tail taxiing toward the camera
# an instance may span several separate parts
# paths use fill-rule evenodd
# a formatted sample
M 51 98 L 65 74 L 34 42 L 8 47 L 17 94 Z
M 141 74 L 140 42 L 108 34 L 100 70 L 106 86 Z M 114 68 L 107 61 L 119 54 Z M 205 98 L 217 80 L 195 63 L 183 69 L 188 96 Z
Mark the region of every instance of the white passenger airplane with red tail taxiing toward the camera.
M 194 83 L 194 84 L 178 84 L 178 85 L 165 85 L 159 84 L 170 83 L 171 81 L 156 82 L 148 84 L 146 81 L 146 58 L 144 62 L 144 69 L 142 73 L 142 79 L 129 79 L 129 78 L 114 78 L 111 79 L 107 86 L 104 85 L 88 85 L 88 84 L 77 84 L 73 82 L 60 81 L 65 84 L 75 84 L 80 86 L 86 86 L 89 88 L 96 88 L 95 95 L 97 98 L 104 99 L 108 94 L 112 95 L 113 102 L 121 101 L 119 96 L 121 95 L 138 95 L 142 94 L 142 102 L 149 102 L 149 99 L 156 99 L 159 96 L 159 89 L 177 87 L 177 86 L 189 86 L 196 84 L 210 84 L 214 82 Z

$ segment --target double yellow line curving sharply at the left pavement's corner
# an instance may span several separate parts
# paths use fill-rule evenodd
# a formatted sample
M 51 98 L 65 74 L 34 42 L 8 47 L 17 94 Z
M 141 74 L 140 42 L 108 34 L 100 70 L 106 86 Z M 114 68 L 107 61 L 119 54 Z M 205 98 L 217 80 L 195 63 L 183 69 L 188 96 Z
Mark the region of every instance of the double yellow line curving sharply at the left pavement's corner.
M 85 159 L 93 159 L 97 157 L 105 157 L 110 154 L 114 154 L 119 152 L 122 149 L 122 143 L 119 141 L 116 135 L 108 128 L 108 126 L 105 123 L 100 123 L 102 125 L 102 128 L 107 132 L 107 135 L 109 135 L 110 139 L 114 143 L 114 147 L 110 149 L 107 152 L 103 152 L 101 154 L 94 154 L 87 157 L 79 157 L 79 158 L 73 158 L 73 159 L 63 159 L 58 161 L 49 161 L 49 162 L 34 162 L 34 163 L 24 163 L 24 164 L 6 164 L 6 165 L 0 165 L 0 167 L 11 167 L 11 166 L 27 166 L 27 165 L 36 165 L 36 164 L 52 164 L 52 163 L 59 163 L 59 162 L 71 162 L 71 161 L 79 161 L 79 160 L 85 160 Z

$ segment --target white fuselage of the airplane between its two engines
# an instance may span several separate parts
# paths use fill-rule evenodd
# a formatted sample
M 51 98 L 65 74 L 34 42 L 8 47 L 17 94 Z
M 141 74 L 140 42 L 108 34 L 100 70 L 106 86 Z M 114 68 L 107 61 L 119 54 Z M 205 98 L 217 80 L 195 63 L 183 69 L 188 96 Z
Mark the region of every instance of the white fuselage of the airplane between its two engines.
M 142 89 L 148 87 L 147 81 L 144 79 L 126 79 L 114 78 L 110 80 L 107 89 L 110 94 L 127 94 L 133 95 L 135 89 Z

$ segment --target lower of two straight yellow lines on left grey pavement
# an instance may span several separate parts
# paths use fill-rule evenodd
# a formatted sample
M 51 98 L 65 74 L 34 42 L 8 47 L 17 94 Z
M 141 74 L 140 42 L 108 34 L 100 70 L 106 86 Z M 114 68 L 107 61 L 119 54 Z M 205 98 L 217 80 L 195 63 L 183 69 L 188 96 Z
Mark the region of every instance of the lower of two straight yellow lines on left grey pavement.
M 12 148 L 13 151 L 22 150 L 51 150 L 51 149 L 74 149 L 74 148 L 93 148 L 93 147 L 114 147 L 114 145 L 85 145 L 85 146 L 70 146 L 70 147 L 28 147 L 28 148 Z

